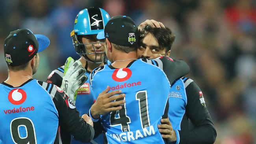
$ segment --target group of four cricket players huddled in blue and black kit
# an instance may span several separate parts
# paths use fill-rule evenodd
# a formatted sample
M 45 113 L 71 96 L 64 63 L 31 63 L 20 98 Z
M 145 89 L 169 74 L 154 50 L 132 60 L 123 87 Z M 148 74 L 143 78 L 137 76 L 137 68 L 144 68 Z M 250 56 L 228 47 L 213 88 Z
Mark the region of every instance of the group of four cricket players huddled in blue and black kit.
M 217 136 L 175 35 L 161 22 L 83 9 L 70 37 L 80 59 L 32 79 L 50 40 L 28 29 L 4 41 L 0 144 L 209 144 Z M 193 127 L 191 127 L 193 126 Z

